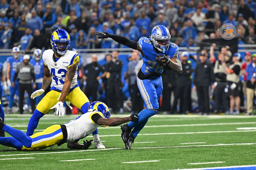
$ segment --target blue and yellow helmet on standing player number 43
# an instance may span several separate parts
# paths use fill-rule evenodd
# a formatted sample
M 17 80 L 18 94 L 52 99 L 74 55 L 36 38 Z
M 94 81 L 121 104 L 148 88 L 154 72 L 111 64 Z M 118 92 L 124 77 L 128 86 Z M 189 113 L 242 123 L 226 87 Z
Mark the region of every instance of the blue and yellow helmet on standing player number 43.
M 51 36 L 51 45 L 59 55 L 64 55 L 70 47 L 70 37 L 66 30 L 55 30 Z

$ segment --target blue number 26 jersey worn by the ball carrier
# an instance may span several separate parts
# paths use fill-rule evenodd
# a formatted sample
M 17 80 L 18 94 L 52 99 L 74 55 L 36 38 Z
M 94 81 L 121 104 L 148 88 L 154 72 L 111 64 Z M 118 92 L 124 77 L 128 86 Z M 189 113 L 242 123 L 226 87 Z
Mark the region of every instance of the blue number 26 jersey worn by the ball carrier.
M 153 49 L 152 41 L 149 38 L 142 37 L 139 39 L 139 46 L 144 54 L 143 65 L 141 71 L 144 74 L 150 74 L 151 72 L 161 73 L 163 68 L 157 65 L 156 55 L 163 55 L 163 53 L 156 53 Z M 179 52 L 179 47 L 171 43 L 168 50 L 164 53 L 167 57 L 172 58 Z

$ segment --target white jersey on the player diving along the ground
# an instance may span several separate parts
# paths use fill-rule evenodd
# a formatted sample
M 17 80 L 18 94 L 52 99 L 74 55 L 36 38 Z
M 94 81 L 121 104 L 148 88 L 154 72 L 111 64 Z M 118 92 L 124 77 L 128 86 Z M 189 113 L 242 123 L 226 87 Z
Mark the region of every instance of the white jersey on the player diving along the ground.
M 74 142 L 77 139 L 83 139 L 89 134 L 93 133 L 93 131 L 95 131 L 99 125 L 91 119 L 91 116 L 97 113 L 101 117 L 104 117 L 103 114 L 98 111 L 87 112 L 75 118 L 75 120 L 71 120 L 64 124 L 67 128 L 68 134 L 66 142 Z

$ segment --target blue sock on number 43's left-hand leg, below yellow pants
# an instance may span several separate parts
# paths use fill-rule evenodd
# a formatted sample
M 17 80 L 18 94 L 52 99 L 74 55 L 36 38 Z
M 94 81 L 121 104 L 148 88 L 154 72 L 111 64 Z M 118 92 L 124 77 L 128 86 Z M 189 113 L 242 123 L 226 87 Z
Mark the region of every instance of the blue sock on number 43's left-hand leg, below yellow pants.
M 31 116 L 29 122 L 28 122 L 28 129 L 27 129 L 27 136 L 31 136 L 34 133 L 35 128 L 37 128 L 39 119 L 43 117 L 44 114 L 42 112 L 39 112 L 37 109 L 35 109 L 33 115 Z

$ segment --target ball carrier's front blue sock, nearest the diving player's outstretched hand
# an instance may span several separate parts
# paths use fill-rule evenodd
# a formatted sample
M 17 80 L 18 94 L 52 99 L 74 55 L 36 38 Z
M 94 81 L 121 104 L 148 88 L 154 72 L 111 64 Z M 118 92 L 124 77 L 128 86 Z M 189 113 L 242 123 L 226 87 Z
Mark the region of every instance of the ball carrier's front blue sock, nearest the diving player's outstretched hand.
M 147 121 L 148 118 L 151 116 L 154 116 L 157 113 L 157 111 L 153 111 L 151 109 L 143 109 L 138 115 L 139 115 L 139 121 L 138 122 L 129 122 L 128 126 L 132 129 L 136 125 L 140 124 L 141 122 Z M 142 127 L 143 128 L 143 127 Z

